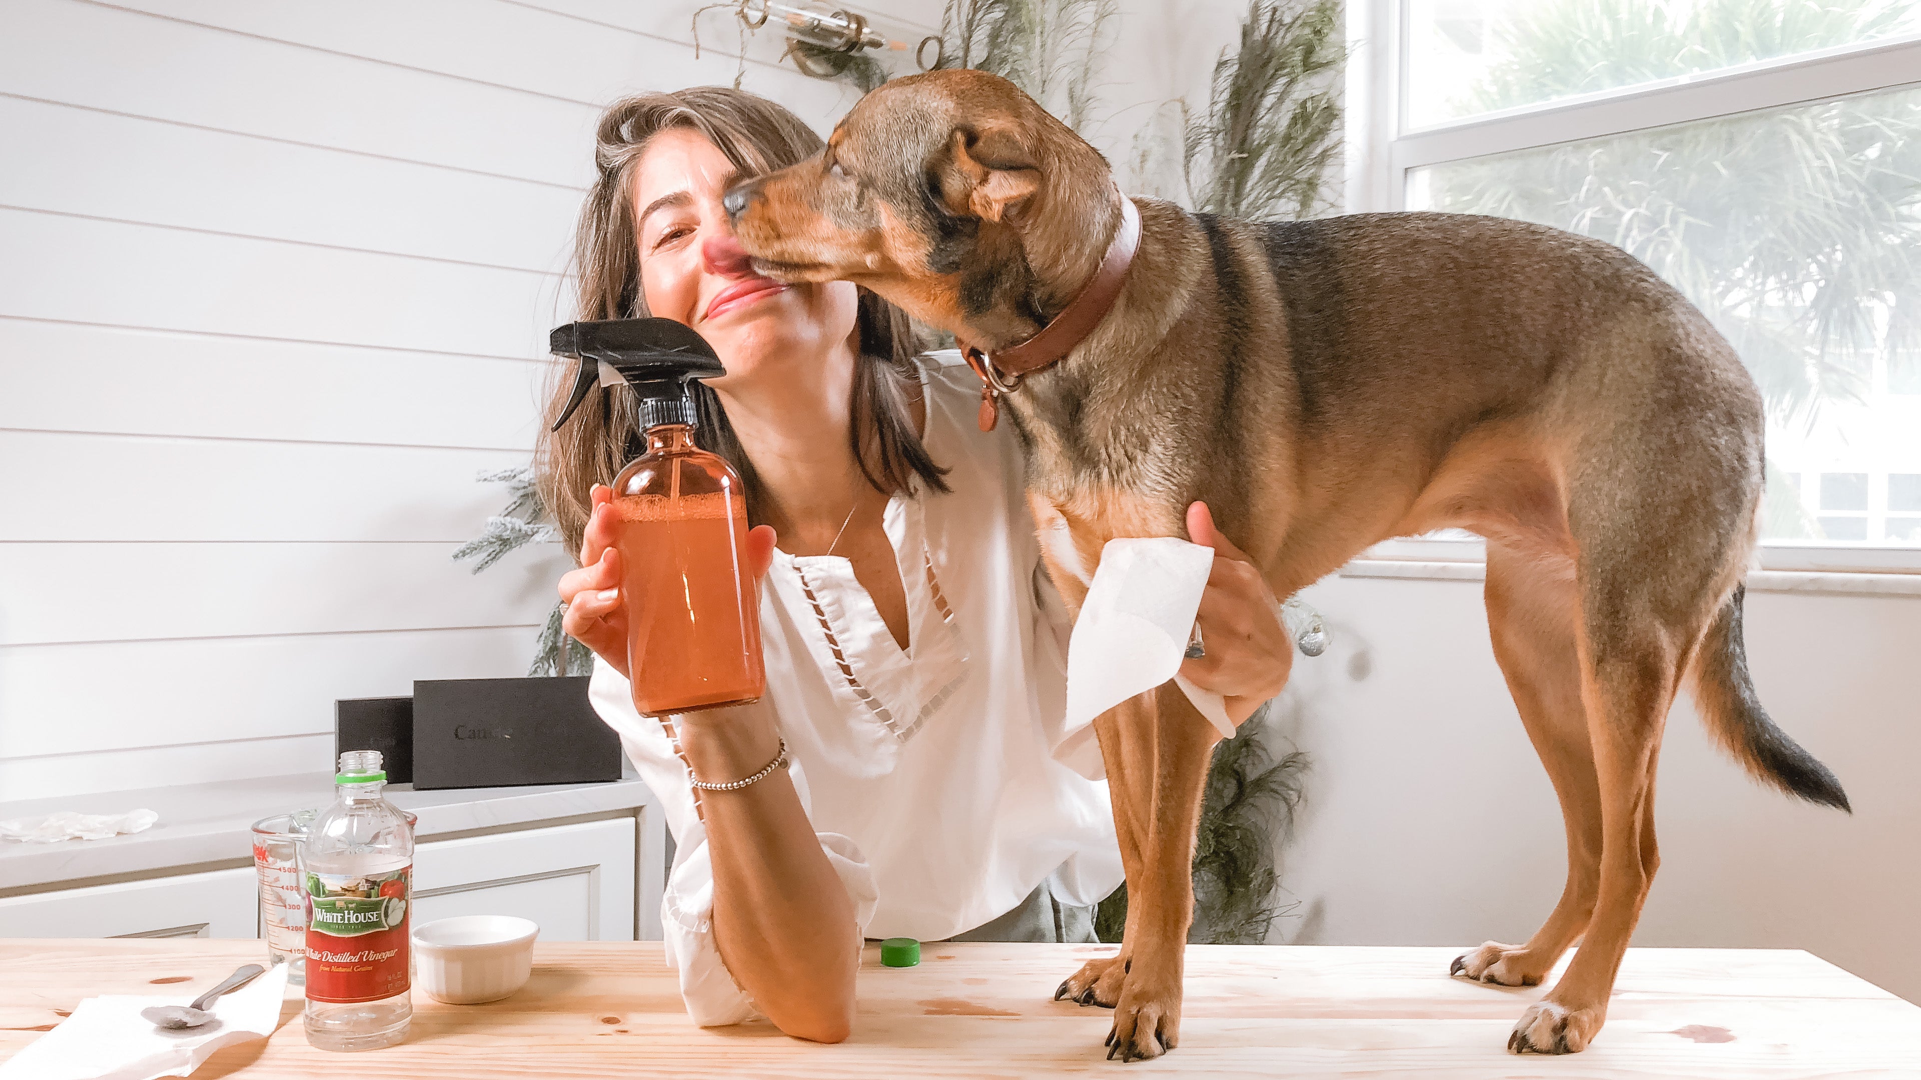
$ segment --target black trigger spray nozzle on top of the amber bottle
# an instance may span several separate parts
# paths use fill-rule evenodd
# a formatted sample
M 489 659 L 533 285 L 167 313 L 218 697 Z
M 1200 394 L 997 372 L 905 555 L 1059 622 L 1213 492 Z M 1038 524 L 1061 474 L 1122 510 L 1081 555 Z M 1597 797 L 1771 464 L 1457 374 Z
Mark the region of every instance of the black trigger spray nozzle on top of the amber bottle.
M 688 402 L 688 379 L 713 379 L 726 375 L 720 357 L 715 356 L 707 338 L 692 327 L 672 319 L 599 319 L 594 323 L 567 323 L 555 327 L 547 336 L 547 350 L 553 356 L 580 359 L 580 373 L 574 375 L 574 390 L 567 396 L 561 419 L 553 421 L 553 430 L 561 430 L 567 417 L 574 415 L 588 390 L 599 382 L 601 365 L 615 369 L 620 379 L 634 386 L 644 404 L 686 402 L 686 407 L 663 409 L 661 415 L 686 415 L 682 423 L 692 423 L 693 409 Z M 645 421 L 645 417 L 644 417 Z M 642 427 L 651 427 L 642 423 Z

